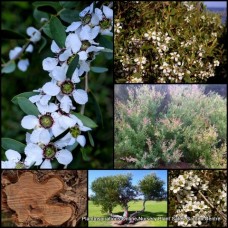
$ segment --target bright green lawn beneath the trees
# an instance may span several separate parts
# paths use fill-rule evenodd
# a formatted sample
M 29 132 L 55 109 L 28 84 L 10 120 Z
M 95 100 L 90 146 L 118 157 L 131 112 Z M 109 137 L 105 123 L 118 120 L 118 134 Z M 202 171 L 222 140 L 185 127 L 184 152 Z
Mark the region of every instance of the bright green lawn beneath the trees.
M 143 201 L 131 201 L 129 202 L 129 214 L 134 213 L 135 211 L 142 210 L 142 204 Z M 167 227 L 167 221 L 165 218 L 167 217 L 167 202 L 166 201 L 146 201 L 146 207 L 145 211 L 139 215 L 139 217 L 142 218 L 152 218 L 153 220 L 147 220 L 146 221 L 146 226 L 163 226 Z M 88 217 L 99 217 L 101 219 L 103 218 L 109 218 L 109 215 L 107 213 L 101 213 L 101 206 L 96 206 L 93 204 L 92 201 L 89 201 L 89 214 Z M 118 215 L 123 215 L 123 209 L 120 206 L 117 206 L 113 210 L 113 214 L 118 214 Z M 163 219 L 159 219 L 160 217 L 163 217 Z M 157 221 L 154 221 L 156 220 Z M 96 227 L 101 227 L 101 226 L 112 226 L 110 220 L 106 221 L 89 221 L 88 223 L 89 227 L 96 226 Z

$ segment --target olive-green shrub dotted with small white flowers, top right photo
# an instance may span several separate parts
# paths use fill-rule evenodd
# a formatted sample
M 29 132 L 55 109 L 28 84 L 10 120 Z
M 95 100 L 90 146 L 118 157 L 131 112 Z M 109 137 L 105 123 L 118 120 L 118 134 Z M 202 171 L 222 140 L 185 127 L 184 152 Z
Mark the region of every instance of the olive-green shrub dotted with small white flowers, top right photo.
M 194 83 L 215 76 L 226 29 L 218 14 L 191 1 L 117 1 L 118 83 Z

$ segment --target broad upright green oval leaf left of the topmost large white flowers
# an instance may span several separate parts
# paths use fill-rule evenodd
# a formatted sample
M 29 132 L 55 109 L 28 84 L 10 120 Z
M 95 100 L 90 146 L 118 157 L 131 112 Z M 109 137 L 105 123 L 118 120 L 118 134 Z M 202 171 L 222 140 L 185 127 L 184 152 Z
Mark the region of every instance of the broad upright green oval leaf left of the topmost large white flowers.
M 65 47 L 65 28 L 57 17 L 52 17 L 50 21 L 50 31 L 54 41 L 60 48 Z

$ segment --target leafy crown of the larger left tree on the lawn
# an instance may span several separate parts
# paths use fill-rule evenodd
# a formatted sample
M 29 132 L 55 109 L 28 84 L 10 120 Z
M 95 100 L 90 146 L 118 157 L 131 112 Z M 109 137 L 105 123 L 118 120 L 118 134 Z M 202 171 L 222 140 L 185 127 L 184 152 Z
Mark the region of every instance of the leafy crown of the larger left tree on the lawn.
M 102 212 L 109 214 L 117 205 L 128 208 L 128 202 L 137 196 L 137 188 L 131 181 L 131 174 L 100 177 L 92 183 L 91 189 L 95 195 L 91 200 L 102 207 Z

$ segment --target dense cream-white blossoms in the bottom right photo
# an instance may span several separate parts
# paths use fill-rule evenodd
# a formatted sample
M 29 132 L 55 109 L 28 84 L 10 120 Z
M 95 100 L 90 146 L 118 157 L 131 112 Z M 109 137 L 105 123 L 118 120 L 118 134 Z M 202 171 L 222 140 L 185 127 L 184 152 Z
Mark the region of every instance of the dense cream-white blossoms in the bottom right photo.
M 203 171 L 202 171 L 203 172 Z M 204 193 L 209 189 L 209 181 L 200 178 L 195 171 L 185 171 L 183 175 L 172 179 L 170 191 L 175 194 L 178 208 L 175 211 L 174 222 L 178 226 L 201 226 L 205 218 L 212 216 L 211 203 L 226 212 L 226 185 L 219 189 L 219 195 L 214 199 L 207 199 Z

